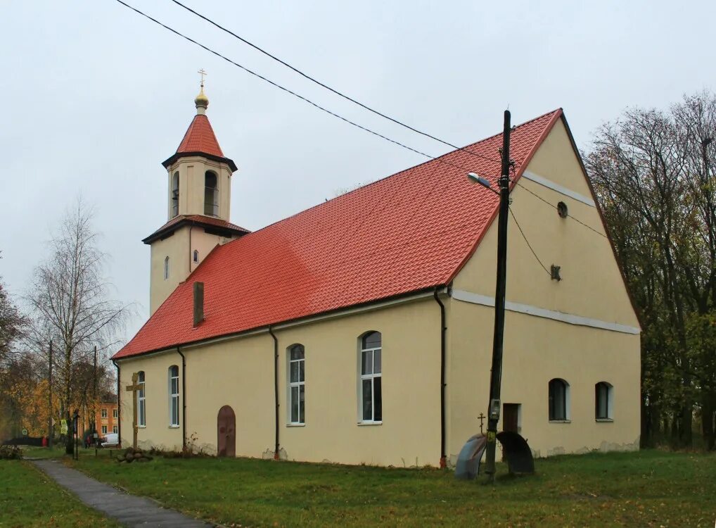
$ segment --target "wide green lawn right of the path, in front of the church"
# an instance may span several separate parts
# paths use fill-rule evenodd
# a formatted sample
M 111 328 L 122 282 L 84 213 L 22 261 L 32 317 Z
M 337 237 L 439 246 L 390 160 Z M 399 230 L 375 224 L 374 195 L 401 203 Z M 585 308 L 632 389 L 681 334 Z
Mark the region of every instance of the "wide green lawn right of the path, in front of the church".
M 93 454 L 93 453 L 92 453 Z M 536 461 L 495 486 L 450 471 L 254 459 L 161 459 L 75 466 L 168 507 L 228 526 L 713 527 L 716 453 L 591 453 Z

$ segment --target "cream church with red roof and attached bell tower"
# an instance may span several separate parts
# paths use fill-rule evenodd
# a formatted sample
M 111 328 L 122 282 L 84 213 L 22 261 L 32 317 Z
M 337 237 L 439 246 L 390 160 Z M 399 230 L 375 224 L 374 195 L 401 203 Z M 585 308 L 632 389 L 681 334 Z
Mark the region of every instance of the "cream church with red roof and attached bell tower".
M 467 175 L 496 180 L 502 135 L 249 232 L 203 87 L 195 106 L 143 240 L 151 315 L 113 357 L 122 445 L 136 374 L 145 448 L 454 464 L 488 411 L 495 304 L 498 196 Z M 536 456 L 637 449 L 639 322 L 562 110 L 511 156 L 499 429 Z

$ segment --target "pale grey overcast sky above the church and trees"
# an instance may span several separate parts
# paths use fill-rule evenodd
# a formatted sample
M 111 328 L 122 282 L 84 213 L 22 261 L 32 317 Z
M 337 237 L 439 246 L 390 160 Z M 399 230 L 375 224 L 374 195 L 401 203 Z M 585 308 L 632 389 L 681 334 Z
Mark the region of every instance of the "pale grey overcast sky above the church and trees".
M 325 92 L 169 0 L 127 0 L 175 29 L 418 150 L 440 143 Z M 625 107 L 714 89 L 713 1 L 185 0 L 369 106 L 466 145 L 563 107 L 578 145 Z M 149 247 L 166 173 L 208 71 L 208 117 L 233 176 L 231 220 L 251 230 L 425 158 L 315 110 L 114 0 L 5 1 L 0 32 L 0 276 L 26 291 L 54 223 L 81 193 L 117 297 L 148 315 Z M 504 30 L 506 29 L 506 31 Z

